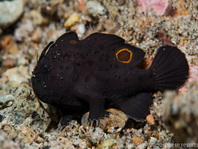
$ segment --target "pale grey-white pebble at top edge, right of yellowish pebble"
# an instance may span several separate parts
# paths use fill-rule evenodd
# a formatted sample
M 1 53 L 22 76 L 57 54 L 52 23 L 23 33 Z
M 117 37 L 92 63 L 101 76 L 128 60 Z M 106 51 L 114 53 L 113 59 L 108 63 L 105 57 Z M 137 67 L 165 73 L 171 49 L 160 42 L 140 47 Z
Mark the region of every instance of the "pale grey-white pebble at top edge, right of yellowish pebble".
M 94 17 L 104 15 L 106 13 L 106 9 L 97 1 L 88 1 L 86 4 L 86 8 L 89 14 Z

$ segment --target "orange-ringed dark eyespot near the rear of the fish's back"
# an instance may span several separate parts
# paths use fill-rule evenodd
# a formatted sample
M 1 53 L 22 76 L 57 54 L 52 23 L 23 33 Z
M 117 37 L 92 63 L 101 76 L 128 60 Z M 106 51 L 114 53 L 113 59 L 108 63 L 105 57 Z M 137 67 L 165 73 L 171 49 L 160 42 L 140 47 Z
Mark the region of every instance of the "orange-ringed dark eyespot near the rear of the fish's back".
M 122 54 L 122 55 L 120 55 L 120 54 Z M 118 52 L 116 52 L 116 59 L 119 62 L 121 62 L 121 63 L 129 63 L 129 62 L 131 62 L 132 56 L 133 56 L 133 53 L 129 49 L 121 49 Z

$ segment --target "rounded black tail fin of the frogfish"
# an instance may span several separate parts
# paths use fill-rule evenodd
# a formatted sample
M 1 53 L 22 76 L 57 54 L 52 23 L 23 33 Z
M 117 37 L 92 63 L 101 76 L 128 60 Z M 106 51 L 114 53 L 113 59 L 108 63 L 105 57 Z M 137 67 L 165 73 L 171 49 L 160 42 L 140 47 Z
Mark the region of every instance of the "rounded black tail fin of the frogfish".
M 177 47 L 160 47 L 149 68 L 154 76 L 155 90 L 175 90 L 181 87 L 188 78 L 189 66 Z

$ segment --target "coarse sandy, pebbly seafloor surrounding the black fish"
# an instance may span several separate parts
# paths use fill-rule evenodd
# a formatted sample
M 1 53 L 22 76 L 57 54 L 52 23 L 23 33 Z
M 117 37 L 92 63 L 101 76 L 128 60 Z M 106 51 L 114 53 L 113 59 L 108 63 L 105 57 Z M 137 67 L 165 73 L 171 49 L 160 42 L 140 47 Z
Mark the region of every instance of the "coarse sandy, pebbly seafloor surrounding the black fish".
M 166 11 L 155 3 L 149 8 L 143 0 L 27 1 L 21 17 L 0 30 L 0 149 L 198 147 L 198 2 L 172 0 Z M 116 34 L 150 59 L 158 47 L 176 45 L 186 54 L 190 77 L 178 92 L 154 94 L 143 124 L 129 121 L 124 127 L 126 116 L 113 111 L 101 128 L 76 121 L 57 126 L 60 112 L 36 98 L 30 78 L 46 44 L 70 30 L 80 39 L 93 32 Z

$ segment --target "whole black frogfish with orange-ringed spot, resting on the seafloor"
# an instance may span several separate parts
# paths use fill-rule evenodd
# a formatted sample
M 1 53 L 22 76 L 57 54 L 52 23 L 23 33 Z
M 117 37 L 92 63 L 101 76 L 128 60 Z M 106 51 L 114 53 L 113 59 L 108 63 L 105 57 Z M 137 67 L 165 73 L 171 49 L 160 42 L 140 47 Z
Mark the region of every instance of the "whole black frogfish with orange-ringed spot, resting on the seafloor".
M 148 69 L 138 67 L 144 55 L 116 35 L 93 33 L 79 40 L 68 32 L 42 51 L 32 86 L 41 101 L 62 111 L 62 125 L 87 111 L 89 120 L 103 118 L 108 108 L 142 121 L 149 114 L 152 93 L 180 88 L 189 74 L 177 47 L 160 47 Z

